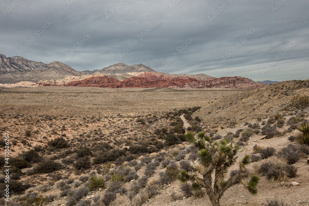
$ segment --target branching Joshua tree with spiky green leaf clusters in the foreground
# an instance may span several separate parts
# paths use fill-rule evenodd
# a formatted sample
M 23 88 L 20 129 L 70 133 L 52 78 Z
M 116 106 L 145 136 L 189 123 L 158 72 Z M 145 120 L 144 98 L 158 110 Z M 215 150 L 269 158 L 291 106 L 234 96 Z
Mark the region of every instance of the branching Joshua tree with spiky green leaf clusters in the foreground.
M 196 146 L 199 151 L 198 155 L 201 158 L 201 162 L 197 160 L 191 160 L 191 166 L 196 171 L 181 170 L 177 179 L 181 183 L 190 182 L 191 189 L 193 191 L 206 189 L 207 195 L 213 206 L 220 206 L 220 198 L 223 193 L 236 182 L 241 182 L 246 189 L 252 194 L 257 194 L 257 183 L 259 177 L 252 175 L 249 182 L 245 181 L 247 169 L 246 165 L 250 163 L 250 156 L 246 155 L 239 162 L 238 174 L 232 176 L 227 181 L 225 180 L 226 173 L 230 166 L 232 166 L 237 157 L 238 146 L 230 139 L 222 140 L 221 142 L 214 141 L 210 144 L 210 137 L 205 135 L 205 132 L 199 132 L 197 136 L 194 136 L 193 132 L 187 132 L 185 134 L 187 141 Z M 214 174 L 214 183 L 212 173 Z

